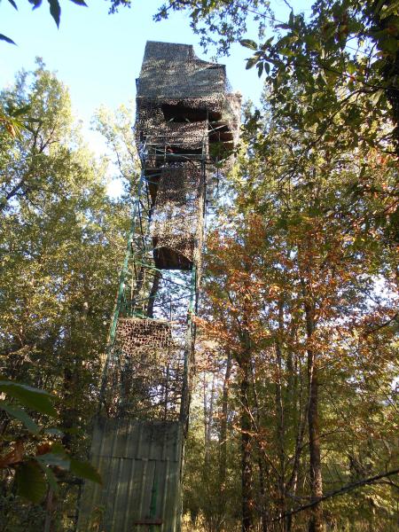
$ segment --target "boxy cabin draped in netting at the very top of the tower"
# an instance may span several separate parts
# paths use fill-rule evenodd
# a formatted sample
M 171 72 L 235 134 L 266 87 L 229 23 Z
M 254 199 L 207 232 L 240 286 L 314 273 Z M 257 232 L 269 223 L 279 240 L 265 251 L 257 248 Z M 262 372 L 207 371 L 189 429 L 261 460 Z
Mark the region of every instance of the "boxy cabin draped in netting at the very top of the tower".
M 239 113 L 224 65 L 197 58 L 189 44 L 147 42 L 137 79 L 139 145 L 151 137 L 184 152 L 207 137 L 225 156 L 239 137 Z

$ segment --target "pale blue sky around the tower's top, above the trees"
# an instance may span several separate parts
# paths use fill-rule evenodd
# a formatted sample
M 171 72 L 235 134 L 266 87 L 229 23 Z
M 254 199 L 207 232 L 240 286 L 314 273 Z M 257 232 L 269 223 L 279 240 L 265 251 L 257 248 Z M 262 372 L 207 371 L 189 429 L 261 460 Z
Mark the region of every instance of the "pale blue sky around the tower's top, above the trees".
M 70 90 L 74 113 L 83 122 L 83 134 L 97 153 L 104 150 L 101 141 L 90 132 L 90 119 L 99 106 L 112 109 L 133 101 L 137 78 L 147 40 L 193 44 L 201 59 L 199 37 L 194 35 L 188 17 L 172 13 L 168 20 L 153 22 L 160 0 L 136 0 L 131 9 L 108 15 L 109 3 L 86 0 L 88 8 L 60 0 L 61 24 L 57 29 L 48 4 L 32 12 L 27 0 L 20 0 L 16 12 L 7 0 L 0 0 L 0 33 L 11 37 L 18 46 L 0 41 L 0 89 L 13 81 L 20 68 L 30 69 L 35 57 L 43 58 L 47 67 L 58 72 Z M 274 0 L 278 18 L 286 20 L 283 0 Z M 298 9 L 309 9 L 310 0 L 296 0 Z M 256 40 L 256 28 L 248 37 Z M 220 59 L 227 66 L 233 90 L 244 99 L 259 101 L 262 80 L 256 71 L 246 71 L 245 59 L 250 51 L 234 45 L 229 58 Z

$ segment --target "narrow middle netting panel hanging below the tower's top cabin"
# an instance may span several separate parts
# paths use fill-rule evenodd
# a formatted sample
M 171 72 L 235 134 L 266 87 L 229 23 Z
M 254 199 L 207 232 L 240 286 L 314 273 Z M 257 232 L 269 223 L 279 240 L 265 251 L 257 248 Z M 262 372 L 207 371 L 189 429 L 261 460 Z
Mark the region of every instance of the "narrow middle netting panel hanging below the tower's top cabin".
M 190 163 L 161 171 L 150 233 L 155 257 L 164 267 L 173 269 L 176 263 L 178 270 L 184 270 L 184 263 L 200 262 L 204 200 L 202 181 L 201 168 Z M 186 262 L 176 262 L 175 255 L 183 257 Z

